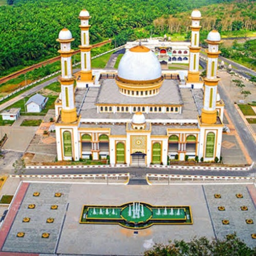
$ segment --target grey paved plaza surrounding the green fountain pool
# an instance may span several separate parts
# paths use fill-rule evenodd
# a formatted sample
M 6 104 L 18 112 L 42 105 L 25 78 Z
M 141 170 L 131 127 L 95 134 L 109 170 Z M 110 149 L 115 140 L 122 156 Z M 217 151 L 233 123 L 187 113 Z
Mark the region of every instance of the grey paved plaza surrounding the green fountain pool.
M 33 196 L 35 192 L 40 195 Z M 55 193 L 61 193 L 61 197 L 55 197 Z M 215 194 L 220 194 L 221 198 L 215 198 Z M 243 198 L 237 198 L 236 194 L 242 194 Z M 194 236 L 223 238 L 233 232 L 237 232 L 249 246 L 256 246 L 256 241 L 251 238 L 256 230 L 255 195 L 255 187 L 246 184 L 125 186 L 23 182 L 2 225 L 6 239 L 2 237 L 0 251 L 139 255 L 154 243 L 174 239 L 188 241 Z M 190 205 L 194 223 L 154 225 L 138 230 L 138 233 L 119 225 L 79 224 L 84 204 L 120 205 L 131 201 Z M 29 204 L 35 204 L 35 208 L 29 209 Z M 58 205 L 58 208 L 53 210 L 52 205 Z M 225 211 L 218 210 L 218 206 L 224 206 Z M 247 206 L 248 210 L 242 211 L 241 206 Z M 13 207 L 16 208 L 12 211 Z M 25 217 L 30 218 L 30 222 L 23 222 Z M 48 218 L 53 218 L 54 222 L 47 223 Z M 222 224 L 224 219 L 229 220 L 229 225 Z M 246 219 L 252 219 L 254 223 L 246 224 Z M 13 224 L 8 228 L 11 220 Z M 18 238 L 17 232 L 25 232 L 25 236 Z M 49 238 L 41 237 L 44 232 L 50 234 Z

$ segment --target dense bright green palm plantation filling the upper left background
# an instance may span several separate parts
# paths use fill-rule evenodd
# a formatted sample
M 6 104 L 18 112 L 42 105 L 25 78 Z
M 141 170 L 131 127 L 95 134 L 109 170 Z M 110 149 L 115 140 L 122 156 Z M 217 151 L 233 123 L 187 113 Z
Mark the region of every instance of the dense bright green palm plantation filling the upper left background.
M 91 43 L 115 38 L 115 44 L 136 38 L 157 17 L 191 11 L 225 0 L 14 0 L 0 7 L 0 71 L 29 66 L 52 57 L 59 48 L 58 32 L 67 27 L 79 45 L 79 11 L 89 10 Z M 1 74 L 0 74 L 1 75 Z

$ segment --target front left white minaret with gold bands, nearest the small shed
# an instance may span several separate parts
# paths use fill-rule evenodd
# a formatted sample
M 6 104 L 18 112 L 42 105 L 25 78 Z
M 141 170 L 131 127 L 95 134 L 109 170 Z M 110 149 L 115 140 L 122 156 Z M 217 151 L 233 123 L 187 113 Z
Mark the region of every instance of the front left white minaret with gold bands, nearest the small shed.
M 62 29 L 57 39 L 60 42 L 61 76 L 58 78 L 61 84 L 61 121 L 72 123 L 77 120 L 74 96 L 74 76 L 72 75 L 71 42 L 74 41 L 68 29 Z

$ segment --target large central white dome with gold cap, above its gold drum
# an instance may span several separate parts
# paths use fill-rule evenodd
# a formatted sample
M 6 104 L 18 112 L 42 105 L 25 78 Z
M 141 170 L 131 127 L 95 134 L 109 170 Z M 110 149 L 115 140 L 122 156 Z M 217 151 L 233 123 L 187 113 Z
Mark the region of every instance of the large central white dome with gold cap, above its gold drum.
M 118 76 L 126 80 L 147 81 L 161 77 L 160 62 L 156 55 L 145 46 L 135 46 L 120 60 Z

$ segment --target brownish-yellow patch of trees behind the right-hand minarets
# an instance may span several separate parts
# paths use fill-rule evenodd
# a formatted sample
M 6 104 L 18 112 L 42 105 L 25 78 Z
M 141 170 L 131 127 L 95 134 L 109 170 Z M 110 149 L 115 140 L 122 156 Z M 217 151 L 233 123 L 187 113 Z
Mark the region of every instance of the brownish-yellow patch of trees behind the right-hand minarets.
M 216 28 L 219 32 L 256 29 L 256 5 L 254 0 L 236 1 L 229 4 L 215 4 L 200 8 L 203 30 Z M 188 32 L 189 12 L 162 16 L 154 20 L 155 29 L 161 32 Z

